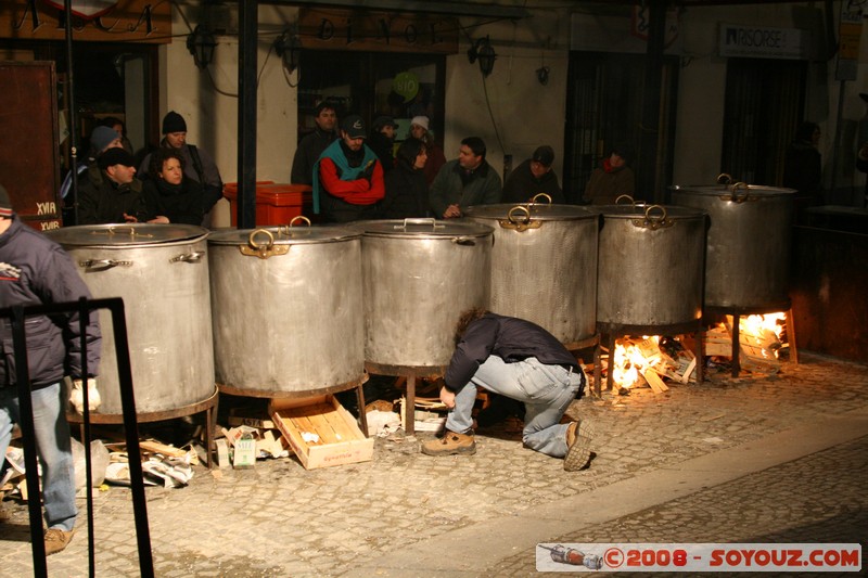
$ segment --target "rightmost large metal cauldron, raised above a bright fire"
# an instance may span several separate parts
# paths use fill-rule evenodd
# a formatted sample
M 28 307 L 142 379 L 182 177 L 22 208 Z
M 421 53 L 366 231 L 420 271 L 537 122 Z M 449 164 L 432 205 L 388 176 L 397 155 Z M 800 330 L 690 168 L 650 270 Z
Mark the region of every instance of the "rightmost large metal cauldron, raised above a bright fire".
M 705 307 L 789 308 L 794 190 L 738 183 L 671 192 L 673 204 L 709 213 Z

